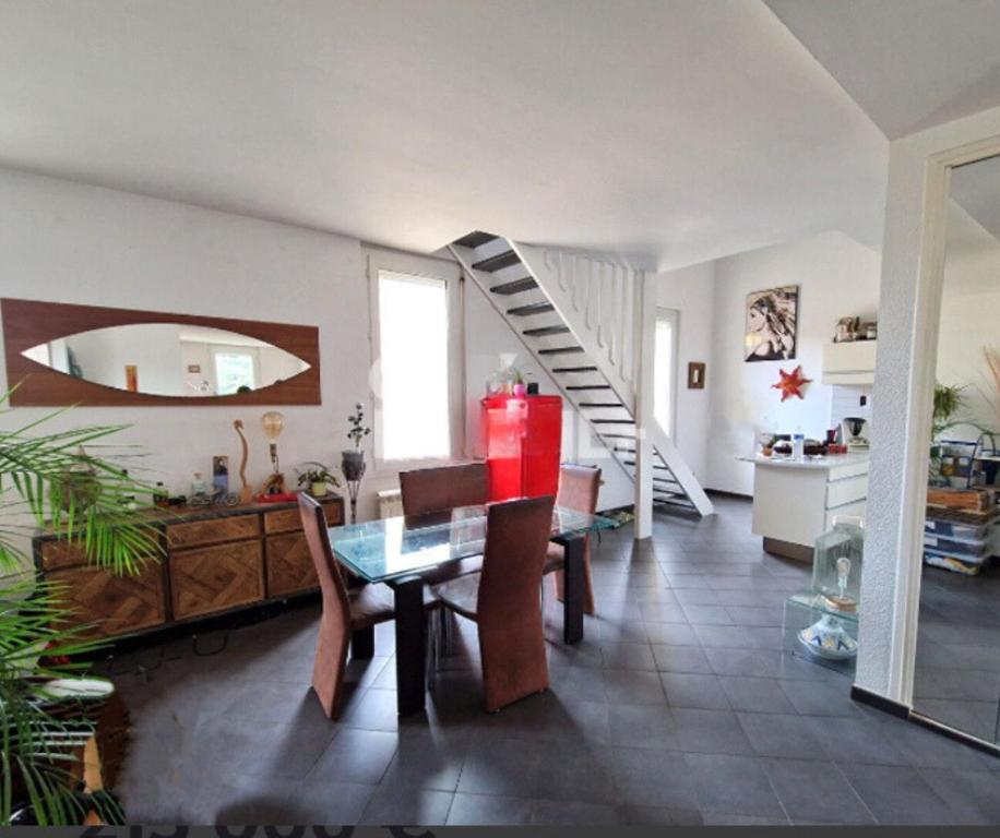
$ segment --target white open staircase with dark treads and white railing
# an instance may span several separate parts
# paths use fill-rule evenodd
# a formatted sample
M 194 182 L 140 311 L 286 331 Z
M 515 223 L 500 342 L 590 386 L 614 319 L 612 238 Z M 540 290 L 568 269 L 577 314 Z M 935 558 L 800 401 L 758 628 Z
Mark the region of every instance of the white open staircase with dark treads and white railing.
M 636 486 L 643 490 L 636 499 L 711 515 L 698 479 L 636 399 L 638 382 L 652 387 L 642 272 L 478 231 L 449 250 L 626 474 L 633 481 L 650 476 L 648 484 Z M 643 370 L 644 359 L 650 369 Z

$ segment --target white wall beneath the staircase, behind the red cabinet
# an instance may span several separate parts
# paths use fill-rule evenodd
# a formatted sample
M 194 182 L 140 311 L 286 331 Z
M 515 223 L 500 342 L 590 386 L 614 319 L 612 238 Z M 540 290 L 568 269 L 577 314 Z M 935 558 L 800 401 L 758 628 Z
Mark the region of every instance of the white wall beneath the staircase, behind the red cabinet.
M 556 383 L 524 348 L 510 326 L 493 310 L 479 287 L 466 282 L 465 288 L 465 446 L 471 457 L 483 456 L 479 399 L 486 395 L 489 376 L 500 367 L 500 356 L 515 355 L 514 366 L 537 381 L 544 394 L 558 395 Z M 569 463 L 600 466 L 604 486 L 598 508 L 624 506 L 633 501 L 632 482 L 612 459 L 608 450 L 591 433 L 576 411 L 562 414 L 562 459 Z

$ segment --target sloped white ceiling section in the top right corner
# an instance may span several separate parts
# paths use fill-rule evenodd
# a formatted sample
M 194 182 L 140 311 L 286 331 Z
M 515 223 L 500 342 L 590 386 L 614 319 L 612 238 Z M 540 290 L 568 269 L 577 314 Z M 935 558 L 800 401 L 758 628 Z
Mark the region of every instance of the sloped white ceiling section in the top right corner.
M 764 0 L 892 140 L 1000 105 L 998 0 Z

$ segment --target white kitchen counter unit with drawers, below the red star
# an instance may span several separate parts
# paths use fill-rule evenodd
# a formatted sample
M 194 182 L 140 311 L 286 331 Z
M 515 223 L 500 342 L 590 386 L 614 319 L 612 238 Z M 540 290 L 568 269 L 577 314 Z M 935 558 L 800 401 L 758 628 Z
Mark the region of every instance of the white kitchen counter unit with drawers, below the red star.
M 753 532 L 764 550 L 812 561 L 817 536 L 838 516 L 865 517 L 868 451 L 791 459 L 738 457 L 752 463 Z

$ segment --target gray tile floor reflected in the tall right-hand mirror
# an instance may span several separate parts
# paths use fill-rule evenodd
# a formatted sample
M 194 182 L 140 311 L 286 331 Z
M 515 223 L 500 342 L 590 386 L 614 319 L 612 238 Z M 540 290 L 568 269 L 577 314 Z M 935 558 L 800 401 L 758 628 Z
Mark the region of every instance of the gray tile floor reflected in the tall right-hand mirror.
M 914 707 L 989 742 L 1000 711 L 1000 562 L 978 576 L 924 566 Z

